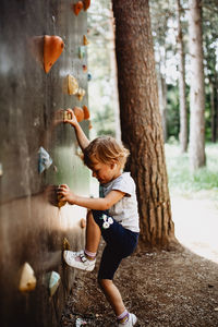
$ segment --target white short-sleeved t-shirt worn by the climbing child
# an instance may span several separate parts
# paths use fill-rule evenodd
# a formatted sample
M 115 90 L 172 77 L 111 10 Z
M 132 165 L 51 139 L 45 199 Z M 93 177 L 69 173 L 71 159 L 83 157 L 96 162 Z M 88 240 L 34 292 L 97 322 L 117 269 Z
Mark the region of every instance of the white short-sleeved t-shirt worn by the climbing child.
M 111 182 L 101 184 L 100 196 L 105 197 L 112 190 L 121 191 L 125 195 L 108 210 L 109 215 L 124 228 L 133 232 L 140 232 L 135 182 L 130 172 L 123 172 Z

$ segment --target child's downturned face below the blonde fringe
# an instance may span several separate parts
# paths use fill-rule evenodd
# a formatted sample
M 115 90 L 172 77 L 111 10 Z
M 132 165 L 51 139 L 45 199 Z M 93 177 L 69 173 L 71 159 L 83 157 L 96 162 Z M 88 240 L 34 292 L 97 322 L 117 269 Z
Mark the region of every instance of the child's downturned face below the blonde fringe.
M 118 164 L 102 164 L 94 161 L 92 165 L 93 177 L 98 180 L 100 184 L 107 184 L 120 174 Z

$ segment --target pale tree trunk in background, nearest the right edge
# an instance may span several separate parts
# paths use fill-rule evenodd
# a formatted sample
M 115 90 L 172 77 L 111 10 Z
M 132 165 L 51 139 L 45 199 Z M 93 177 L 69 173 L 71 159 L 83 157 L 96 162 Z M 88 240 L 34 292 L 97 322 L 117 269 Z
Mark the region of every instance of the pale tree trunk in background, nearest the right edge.
M 202 0 L 189 0 L 190 8 L 190 165 L 194 171 L 205 166 L 205 87 L 202 44 Z

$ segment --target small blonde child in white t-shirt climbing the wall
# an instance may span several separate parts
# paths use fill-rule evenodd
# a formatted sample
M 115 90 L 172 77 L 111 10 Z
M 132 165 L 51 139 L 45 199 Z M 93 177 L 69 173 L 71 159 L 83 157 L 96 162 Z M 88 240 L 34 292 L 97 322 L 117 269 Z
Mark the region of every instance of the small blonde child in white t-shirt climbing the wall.
M 100 238 L 106 241 L 98 282 L 114 311 L 118 326 L 134 326 L 136 316 L 126 311 L 121 294 L 113 283 L 113 276 L 122 258 L 131 255 L 137 245 L 138 213 L 135 183 L 129 172 L 122 172 L 129 150 L 113 137 L 102 136 L 89 142 L 81 129 L 73 110 L 68 109 L 70 123 L 83 150 L 84 164 L 93 171 L 100 183 L 99 198 L 78 196 L 68 185 L 59 187 L 62 201 L 88 208 L 86 245 L 81 252 L 64 251 L 65 263 L 74 268 L 92 271 Z

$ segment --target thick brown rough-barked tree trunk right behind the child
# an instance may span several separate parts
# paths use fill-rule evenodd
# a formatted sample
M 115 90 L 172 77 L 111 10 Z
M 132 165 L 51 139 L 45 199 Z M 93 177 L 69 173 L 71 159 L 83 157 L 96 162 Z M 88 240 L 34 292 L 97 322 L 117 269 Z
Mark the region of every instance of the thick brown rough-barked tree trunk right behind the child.
M 113 0 L 122 141 L 137 186 L 141 245 L 167 247 L 174 225 L 165 162 L 147 0 Z

